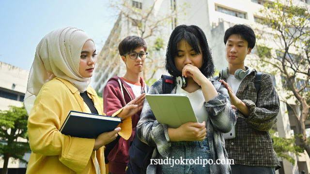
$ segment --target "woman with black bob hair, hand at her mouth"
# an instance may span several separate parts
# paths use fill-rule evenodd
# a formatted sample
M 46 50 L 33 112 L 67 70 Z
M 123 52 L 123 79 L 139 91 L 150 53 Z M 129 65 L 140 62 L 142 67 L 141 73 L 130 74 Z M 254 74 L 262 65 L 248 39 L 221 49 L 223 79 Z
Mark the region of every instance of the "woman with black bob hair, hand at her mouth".
M 171 93 L 188 95 L 198 123 L 187 122 L 176 129 L 168 128 L 158 123 L 145 101 L 137 133 L 142 142 L 155 146 L 146 173 L 231 174 L 222 133 L 232 130 L 236 116 L 225 86 L 209 79 L 215 68 L 202 29 L 181 25 L 172 31 L 166 70 L 176 82 L 180 76 L 187 78 L 187 86 L 176 83 Z M 162 80 L 156 81 L 148 94 L 163 94 Z M 212 162 L 216 164 L 211 165 Z

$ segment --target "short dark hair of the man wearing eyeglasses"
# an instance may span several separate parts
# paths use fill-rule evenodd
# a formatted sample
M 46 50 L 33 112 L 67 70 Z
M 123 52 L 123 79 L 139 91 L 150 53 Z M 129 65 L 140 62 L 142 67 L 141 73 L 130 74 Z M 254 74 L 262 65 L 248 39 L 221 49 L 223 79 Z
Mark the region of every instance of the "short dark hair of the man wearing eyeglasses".
M 139 36 L 127 36 L 119 45 L 118 52 L 121 56 L 124 54 L 132 52 L 134 49 L 138 47 L 143 47 L 144 51 L 147 50 L 147 46 L 145 41 Z

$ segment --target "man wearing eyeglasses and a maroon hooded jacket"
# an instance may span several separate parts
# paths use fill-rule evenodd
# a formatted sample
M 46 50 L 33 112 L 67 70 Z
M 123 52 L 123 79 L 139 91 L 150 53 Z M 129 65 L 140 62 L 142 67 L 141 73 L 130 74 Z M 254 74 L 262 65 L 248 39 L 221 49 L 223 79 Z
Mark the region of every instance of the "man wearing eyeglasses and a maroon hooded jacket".
M 110 78 L 104 88 L 103 107 L 107 116 L 111 116 L 136 97 L 147 93 L 149 87 L 141 77 L 144 60 L 147 58 L 146 49 L 145 41 L 138 36 L 128 36 L 119 44 L 118 50 L 126 65 L 126 73 L 122 77 Z M 106 145 L 105 161 L 109 174 L 125 174 L 129 160 L 130 142 L 133 140 L 140 114 L 139 111 L 134 116 L 123 120 L 132 122 L 132 133 L 128 140 L 118 136 L 116 140 Z

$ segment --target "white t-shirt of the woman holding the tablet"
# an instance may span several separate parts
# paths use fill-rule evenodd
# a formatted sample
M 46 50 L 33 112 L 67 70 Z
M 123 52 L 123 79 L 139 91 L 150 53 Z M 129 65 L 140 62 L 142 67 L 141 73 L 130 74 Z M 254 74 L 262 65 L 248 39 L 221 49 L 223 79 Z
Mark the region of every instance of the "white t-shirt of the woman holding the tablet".
M 198 89 L 195 92 L 188 93 L 182 87 L 177 83 L 176 86 L 176 93 L 177 94 L 187 94 L 189 98 L 189 102 L 192 105 L 192 108 L 194 110 L 194 113 L 197 117 L 197 120 L 199 123 L 202 123 L 203 121 L 207 122 L 208 119 L 208 113 L 206 108 L 204 107 L 203 103 L 205 102 L 202 89 Z M 207 124 L 205 124 L 207 126 Z

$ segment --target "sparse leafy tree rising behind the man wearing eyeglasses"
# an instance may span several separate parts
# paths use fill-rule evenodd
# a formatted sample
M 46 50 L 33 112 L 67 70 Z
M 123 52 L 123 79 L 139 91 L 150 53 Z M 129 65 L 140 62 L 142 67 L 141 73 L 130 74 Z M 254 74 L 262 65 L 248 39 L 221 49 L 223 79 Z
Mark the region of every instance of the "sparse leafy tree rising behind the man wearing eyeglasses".
M 131 1 L 130 1 L 131 2 Z M 172 1 L 171 1 L 172 2 Z M 167 26 L 177 25 L 176 17 L 178 14 L 185 14 L 185 8 L 188 5 L 182 4 L 177 6 L 171 4 L 171 10 L 167 14 L 160 14 L 155 12 L 157 0 L 150 7 L 137 8 L 131 3 L 127 3 L 126 0 L 114 1 L 110 6 L 117 9 L 120 14 L 130 23 L 129 35 L 137 35 L 143 38 L 146 43 L 149 53 L 145 62 L 143 70 L 143 78 L 148 85 L 152 85 L 157 79 L 154 79 L 156 71 L 163 70 L 165 59 L 162 54 L 166 43 L 164 42 L 163 35 L 169 35 L 165 33 Z M 172 2 L 173 3 L 173 2 Z M 116 49 L 114 49 L 117 51 Z M 123 62 L 119 62 L 123 63 Z

